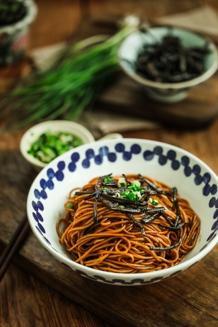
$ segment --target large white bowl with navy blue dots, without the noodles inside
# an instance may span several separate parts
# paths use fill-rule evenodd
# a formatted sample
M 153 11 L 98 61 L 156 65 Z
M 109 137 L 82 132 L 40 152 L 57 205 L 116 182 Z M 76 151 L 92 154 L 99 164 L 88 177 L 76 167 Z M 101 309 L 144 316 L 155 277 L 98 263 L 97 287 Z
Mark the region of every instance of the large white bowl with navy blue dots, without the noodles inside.
M 201 219 L 197 244 L 179 265 L 161 271 L 123 274 L 75 263 L 59 243 L 56 222 L 65 216 L 70 191 L 108 173 L 147 175 L 176 186 Z M 56 259 L 87 278 L 116 285 L 141 285 L 175 276 L 201 260 L 218 241 L 218 177 L 200 159 L 169 144 L 141 140 L 102 140 L 72 149 L 49 163 L 34 180 L 27 198 L 30 226 Z M 199 265 L 199 264 L 198 264 Z

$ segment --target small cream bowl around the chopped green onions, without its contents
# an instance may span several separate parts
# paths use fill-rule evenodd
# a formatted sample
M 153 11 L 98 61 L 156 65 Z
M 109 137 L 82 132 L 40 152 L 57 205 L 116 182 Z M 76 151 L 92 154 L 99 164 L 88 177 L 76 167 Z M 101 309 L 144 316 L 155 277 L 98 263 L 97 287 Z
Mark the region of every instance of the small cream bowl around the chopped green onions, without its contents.
M 75 136 L 78 136 L 84 144 L 93 142 L 94 136 L 92 133 L 86 129 L 84 126 L 77 124 L 75 122 L 66 121 L 66 120 L 49 120 L 43 123 L 39 123 L 34 125 L 30 129 L 28 129 L 20 142 L 20 150 L 24 158 L 31 163 L 36 171 L 40 171 L 44 168 L 47 163 L 43 163 L 42 161 L 33 157 L 33 155 L 29 154 L 27 151 L 30 149 L 31 144 L 38 139 L 38 137 L 47 131 L 51 132 L 66 132 L 71 133 Z

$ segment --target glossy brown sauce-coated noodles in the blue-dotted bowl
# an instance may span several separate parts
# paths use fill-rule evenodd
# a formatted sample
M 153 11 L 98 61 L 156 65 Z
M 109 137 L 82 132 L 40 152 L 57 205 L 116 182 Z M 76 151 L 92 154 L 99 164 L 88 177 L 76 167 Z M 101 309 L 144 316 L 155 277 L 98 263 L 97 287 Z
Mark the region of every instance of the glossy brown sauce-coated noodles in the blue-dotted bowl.
M 125 177 L 129 181 L 140 181 L 139 176 L 141 177 L 141 175 Z M 153 202 L 147 202 L 147 205 L 146 198 L 143 198 L 143 204 L 140 203 L 141 206 L 147 205 L 146 210 L 150 211 L 147 214 L 146 211 L 130 214 L 124 212 L 125 209 L 111 209 L 100 196 L 96 200 L 97 222 L 93 223 L 94 196 L 91 195 L 89 199 L 84 200 L 87 194 L 74 195 L 74 191 L 78 189 L 70 192 L 69 200 L 64 204 L 67 210 L 66 217 L 57 222 L 57 233 L 59 241 L 65 245 L 73 261 L 86 267 L 109 272 L 151 272 L 176 266 L 194 248 L 200 231 L 200 219 L 189 206 L 188 201 L 177 198 L 177 209 L 174 212 L 172 207 L 175 206 L 173 198 L 176 192 L 174 191 L 173 195 L 165 184 L 145 176 L 141 178 L 144 178 L 147 183 L 154 184 L 154 186 L 151 184 L 153 192 L 148 195 L 158 201 L 158 205 L 154 205 Z M 113 177 L 112 183 L 118 180 L 119 177 Z M 95 191 L 98 182 L 99 179 L 94 178 L 80 191 L 87 193 Z M 148 186 L 150 187 L 149 184 Z M 161 189 L 162 194 L 155 194 L 155 187 Z M 116 198 L 114 199 L 116 201 Z M 136 206 L 138 206 L 138 199 Z M 159 211 L 158 214 L 156 211 L 152 212 L 152 209 L 158 210 L 159 207 L 164 207 L 165 210 L 162 209 L 164 212 Z M 135 209 L 137 210 L 139 211 Z M 155 219 L 154 214 L 156 214 Z M 143 223 L 142 218 L 154 220 Z M 174 227 L 176 218 L 177 220 L 181 218 L 180 222 L 177 221 L 177 228 Z M 60 232 L 62 223 L 64 223 L 63 232 Z M 142 230 L 140 225 L 143 227 Z M 154 248 L 164 249 L 175 246 L 179 243 L 179 237 L 181 243 L 176 248 L 154 250 Z

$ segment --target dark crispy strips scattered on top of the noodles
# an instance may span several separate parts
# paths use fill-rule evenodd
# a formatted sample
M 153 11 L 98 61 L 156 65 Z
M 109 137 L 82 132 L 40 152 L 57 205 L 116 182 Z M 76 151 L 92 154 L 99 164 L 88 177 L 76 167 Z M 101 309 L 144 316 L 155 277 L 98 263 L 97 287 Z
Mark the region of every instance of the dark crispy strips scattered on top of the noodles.
M 179 223 L 179 220 L 182 217 L 181 217 L 181 213 L 179 210 L 178 201 L 176 200 L 177 190 L 175 187 L 172 188 L 169 192 L 165 192 L 162 189 L 160 189 L 159 187 L 157 187 L 154 183 L 143 178 L 141 174 L 138 174 L 138 177 L 140 178 L 142 185 L 144 186 L 144 183 L 146 185 L 148 185 L 148 189 L 144 190 L 141 193 L 142 197 L 146 194 L 148 194 L 150 196 L 150 195 L 159 193 L 159 194 L 163 194 L 166 197 L 168 197 L 170 199 L 170 201 L 173 203 L 172 210 L 176 209 L 176 212 L 177 212 L 177 218 L 176 218 L 176 222 L 174 225 L 174 223 L 171 221 L 171 219 L 164 213 L 164 211 L 165 211 L 164 207 L 155 207 L 155 208 L 149 208 L 149 209 L 147 208 L 148 202 L 146 202 L 146 200 L 149 199 L 149 196 L 147 196 L 144 199 L 145 202 L 143 202 L 142 200 L 139 200 L 138 197 L 136 197 L 136 201 L 134 201 L 130 198 L 122 198 L 122 197 L 118 196 L 119 194 L 121 195 L 123 192 L 125 192 L 127 190 L 129 191 L 128 187 L 132 183 L 130 181 L 128 181 L 128 179 L 126 178 L 126 175 L 123 174 L 123 177 L 124 177 L 127 185 L 123 186 L 122 188 L 118 188 L 116 181 L 114 181 L 114 180 L 104 181 L 105 178 L 107 178 L 111 175 L 112 174 L 100 176 L 96 182 L 95 191 L 77 191 L 77 192 L 75 192 L 75 195 L 87 194 L 87 196 L 84 198 L 85 201 L 89 200 L 91 198 L 94 198 L 94 203 L 93 203 L 93 223 L 94 224 L 96 224 L 98 222 L 97 200 L 98 200 L 98 198 L 101 197 L 102 202 L 104 202 L 112 211 L 119 211 L 119 212 L 126 213 L 132 219 L 132 221 L 141 228 L 141 232 L 144 236 L 146 236 L 146 233 L 144 231 L 143 225 L 139 221 L 137 221 L 133 217 L 132 214 L 151 213 L 149 215 L 143 216 L 143 218 L 141 219 L 142 223 L 144 223 L 144 224 L 149 223 L 149 222 L 159 218 L 162 215 L 163 218 L 166 220 L 166 222 L 169 224 L 169 226 L 164 225 L 164 224 L 159 224 L 161 227 L 164 227 L 164 228 L 172 230 L 172 231 L 181 230 L 181 227 L 184 225 L 184 223 Z M 109 188 L 104 189 L 102 186 L 107 186 Z M 171 196 L 173 195 L 173 201 L 169 197 L 170 195 Z M 122 204 L 125 207 L 120 208 L 119 204 Z M 173 246 L 173 248 L 175 248 L 175 247 L 176 246 Z M 159 250 L 159 248 L 152 248 L 152 249 Z M 161 248 L 161 250 L 163 250 L 163 249 L 164 248 Z M 169 247 L 166 249 L 170 250 Z

